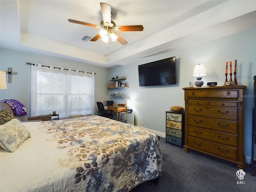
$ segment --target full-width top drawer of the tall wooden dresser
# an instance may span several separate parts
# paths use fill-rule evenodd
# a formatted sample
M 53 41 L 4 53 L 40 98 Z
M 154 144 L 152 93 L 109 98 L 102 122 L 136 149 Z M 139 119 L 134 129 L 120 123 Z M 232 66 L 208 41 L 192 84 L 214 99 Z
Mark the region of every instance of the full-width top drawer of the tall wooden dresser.
M 188 90 L 187 98 L 238 98 L 238 90 Z

